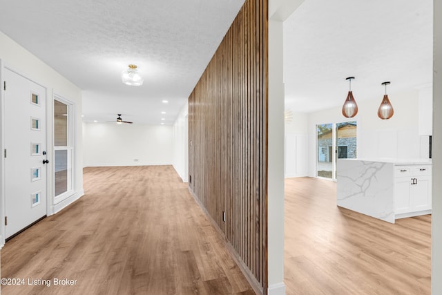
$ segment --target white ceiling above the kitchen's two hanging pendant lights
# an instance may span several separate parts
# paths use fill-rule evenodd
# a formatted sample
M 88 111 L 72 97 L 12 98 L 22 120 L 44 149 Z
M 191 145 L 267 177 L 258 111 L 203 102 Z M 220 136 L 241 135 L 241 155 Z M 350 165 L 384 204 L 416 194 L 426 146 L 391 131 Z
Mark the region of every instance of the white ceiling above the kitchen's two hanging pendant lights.
M 342 106 L 432 83 L 432 0 L 305 0 L 284 23 L 286 108 Z

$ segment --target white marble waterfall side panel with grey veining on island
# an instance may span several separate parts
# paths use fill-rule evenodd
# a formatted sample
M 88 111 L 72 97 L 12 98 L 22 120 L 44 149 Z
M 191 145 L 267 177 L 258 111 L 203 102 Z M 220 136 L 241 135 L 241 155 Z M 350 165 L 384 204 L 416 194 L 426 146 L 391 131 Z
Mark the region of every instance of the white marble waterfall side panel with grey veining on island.
M 394 223 L 393 163 L 338 161 L 337 204 Z

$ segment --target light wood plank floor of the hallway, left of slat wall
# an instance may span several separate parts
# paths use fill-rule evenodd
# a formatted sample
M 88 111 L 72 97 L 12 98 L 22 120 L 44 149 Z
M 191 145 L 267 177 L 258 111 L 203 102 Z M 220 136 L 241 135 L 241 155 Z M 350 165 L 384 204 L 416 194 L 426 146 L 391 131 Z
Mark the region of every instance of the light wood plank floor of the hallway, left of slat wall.
M 84 169 L 86 195 L 8 241 L 9 294 L 254 294 L 172 166 Z

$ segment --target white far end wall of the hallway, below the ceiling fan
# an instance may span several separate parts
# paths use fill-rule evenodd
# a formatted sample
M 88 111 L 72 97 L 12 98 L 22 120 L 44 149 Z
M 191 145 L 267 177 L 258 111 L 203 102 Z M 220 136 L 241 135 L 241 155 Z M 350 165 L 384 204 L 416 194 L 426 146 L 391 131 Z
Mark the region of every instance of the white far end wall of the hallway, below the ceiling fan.
M 173 127 L 84 123 L 84 166 L 170 165 Z

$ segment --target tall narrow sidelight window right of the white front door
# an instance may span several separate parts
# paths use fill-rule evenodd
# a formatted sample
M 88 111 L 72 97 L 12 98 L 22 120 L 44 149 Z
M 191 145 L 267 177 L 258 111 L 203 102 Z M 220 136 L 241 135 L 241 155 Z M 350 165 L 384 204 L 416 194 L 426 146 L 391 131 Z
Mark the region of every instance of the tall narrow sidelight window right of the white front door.
M 61 97 L 54 99 L 54 196 L 55 204 L 72 193 L 73 142 L 70 139 L 72 107 Z

